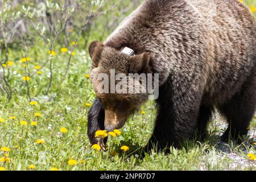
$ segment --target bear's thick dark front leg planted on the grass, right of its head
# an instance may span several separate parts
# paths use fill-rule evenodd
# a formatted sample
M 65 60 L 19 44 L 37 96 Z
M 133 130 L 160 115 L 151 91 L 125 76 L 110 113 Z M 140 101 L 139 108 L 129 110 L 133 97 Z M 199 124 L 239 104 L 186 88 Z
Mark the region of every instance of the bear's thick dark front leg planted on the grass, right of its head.
M 195 85 L 183 83 L 188 81 L 179 78 L 174 84 L 170 79 L 160 86 L 155 129 L 145 152 L 154 149 L 168 154 L 171 146 L 180 148 L 184 140 L 194 137 L 202 94 Z

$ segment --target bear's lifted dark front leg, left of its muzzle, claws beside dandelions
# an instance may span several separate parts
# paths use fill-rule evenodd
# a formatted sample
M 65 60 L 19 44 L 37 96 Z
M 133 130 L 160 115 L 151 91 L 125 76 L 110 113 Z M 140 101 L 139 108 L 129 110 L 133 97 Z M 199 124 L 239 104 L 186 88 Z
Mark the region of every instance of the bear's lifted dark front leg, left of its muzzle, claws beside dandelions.
M 91 144 L 100 144 L 100 146 L 105 146 L 107 138 L 104 141 L 99 141 L 95 138 L 95 132 L 97 130 L 104 130 L 104 120 L 105 120 L 105 108 L 104 104 L 100 99 L 96 98 L 92 107 L 88 112 L 88 125 L 87 125 L 87 135 L 89 137 Z

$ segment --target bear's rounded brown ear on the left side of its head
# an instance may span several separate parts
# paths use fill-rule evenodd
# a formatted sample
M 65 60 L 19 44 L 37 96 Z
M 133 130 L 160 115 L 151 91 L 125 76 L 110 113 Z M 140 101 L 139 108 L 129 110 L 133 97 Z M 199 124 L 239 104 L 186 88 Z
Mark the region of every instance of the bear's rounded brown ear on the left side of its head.
M 98 61 L 100 60 L 101 52 L 104 48 L 104 45 L 101 42 L 94 41 L 90 43 L 89 46 L 89 55 L 93 60 L 93 66 L 98 67 Z

